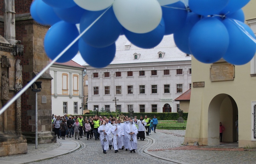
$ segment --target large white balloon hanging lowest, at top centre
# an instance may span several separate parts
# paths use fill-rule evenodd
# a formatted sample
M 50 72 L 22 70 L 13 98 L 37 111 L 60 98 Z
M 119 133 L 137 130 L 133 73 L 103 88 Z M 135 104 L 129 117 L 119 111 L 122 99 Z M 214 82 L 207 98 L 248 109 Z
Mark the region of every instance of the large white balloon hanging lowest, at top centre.
M 140 34 L 154 30 L 162 18 L 157 0 L 115 0 L 113 10 L 124 28 Z

